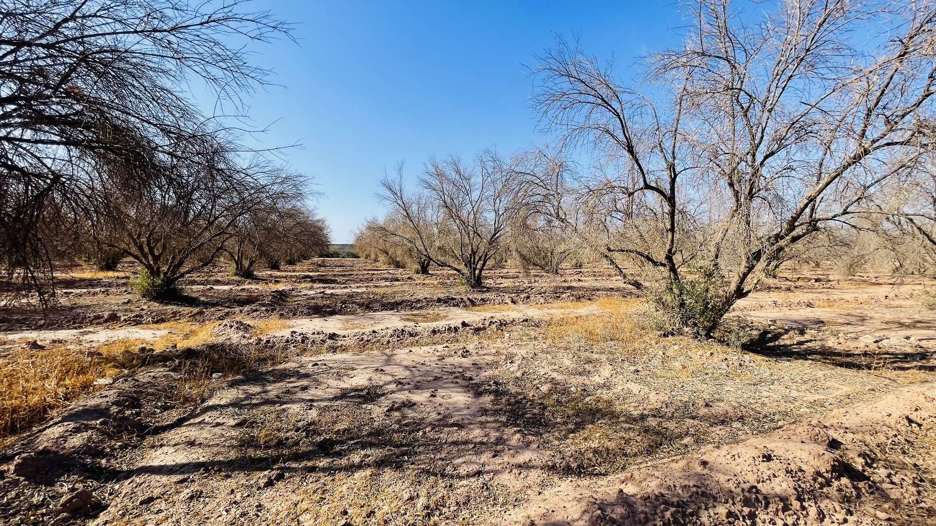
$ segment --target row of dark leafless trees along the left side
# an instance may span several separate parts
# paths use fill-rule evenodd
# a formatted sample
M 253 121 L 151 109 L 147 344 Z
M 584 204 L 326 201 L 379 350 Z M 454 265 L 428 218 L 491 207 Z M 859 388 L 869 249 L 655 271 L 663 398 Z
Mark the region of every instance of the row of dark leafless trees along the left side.
M 128 256 L 141 291 L 227 254 L 317 251 L 309 182 L 239 141 L 180 86 L 237 110 L 268 72 L 243 47 L 289 27 L 239 0 L 11 0 L 0 13 L 0 252 L 7 285 L 45 301 L 76 254 Z

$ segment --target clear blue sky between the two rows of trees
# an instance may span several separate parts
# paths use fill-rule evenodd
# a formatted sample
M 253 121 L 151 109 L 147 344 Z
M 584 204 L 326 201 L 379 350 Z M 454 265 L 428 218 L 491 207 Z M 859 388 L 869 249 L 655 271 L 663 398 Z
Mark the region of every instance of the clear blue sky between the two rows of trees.
M 630 4 L 630 5 L 629 5 Z M 385 169 L 415 179 L 431 155 L 512 153 L 547 138 L 530 109 L 526 66 L 553 42 L 580 35 L 623 77 L 639 56 L 680 40 L 673 2 L 257 2 L 295 22 L 299 44 L 255 47 L 274 70 L 249 114 L 271 124 L 265 146 L 299 142 L 289 164 L 313 175 L 334 242 L 352 241 Z

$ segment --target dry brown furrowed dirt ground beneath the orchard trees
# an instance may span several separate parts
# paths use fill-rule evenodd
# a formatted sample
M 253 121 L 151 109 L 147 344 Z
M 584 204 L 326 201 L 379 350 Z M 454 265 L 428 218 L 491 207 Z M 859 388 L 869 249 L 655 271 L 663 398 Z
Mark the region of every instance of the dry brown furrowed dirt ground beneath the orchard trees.
M 920 278 L 785 270 L 700 342 L 601 268 L 129 277 L 0 312 L 0 359 L 106 364 L 0 442 L 3 524 L 936 524 Z

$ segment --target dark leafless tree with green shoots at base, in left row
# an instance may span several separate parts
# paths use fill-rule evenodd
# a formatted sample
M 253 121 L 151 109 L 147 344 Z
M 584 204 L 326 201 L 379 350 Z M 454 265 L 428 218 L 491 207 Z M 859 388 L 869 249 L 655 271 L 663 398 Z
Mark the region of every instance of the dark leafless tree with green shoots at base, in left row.
M 246 164 L 211 150 L 191 152 L 185 161 L 117 157 L 102 166 L 91 180 L 95 187 L 85 191 L 94 199 L 92 236 L 139 263 L 139 291 L 151 298 L 174 293 L 180 279 L 233 251 L 232 243 L 252 246 L 248 232 L 257 218 L 275 212 L 275 203 L 294 201 L 305 183 L 262 159 Z M 147 173 L 125 177 L 131 170 Z M 246 253 L 238 252 L 241 264 Z

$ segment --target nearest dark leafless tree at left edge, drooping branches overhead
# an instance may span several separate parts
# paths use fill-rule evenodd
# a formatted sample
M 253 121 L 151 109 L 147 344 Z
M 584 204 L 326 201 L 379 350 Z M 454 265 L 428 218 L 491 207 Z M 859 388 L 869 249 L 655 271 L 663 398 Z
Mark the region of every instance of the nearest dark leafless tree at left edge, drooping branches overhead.
M 241 0 L 4 3 L 0 251 L 7 278 L 50 291 L 55 258 L 67 253 L 70 233 L 80 231 L 69 228 L 80 223 L 75 212 L 89 206 L 83 192 L 101 158 L 92 153 L 126 158 L 129 132 L 140 158 L 169 163 L 183 154 L 181 145 L 217 131 L 179 86 L 204 83 L 236 108 L 242 93 L 264 81 L 267 71 L 250 64 L 242 45 L 287 36 L 288 26 L 246 6 Z

